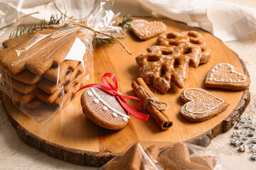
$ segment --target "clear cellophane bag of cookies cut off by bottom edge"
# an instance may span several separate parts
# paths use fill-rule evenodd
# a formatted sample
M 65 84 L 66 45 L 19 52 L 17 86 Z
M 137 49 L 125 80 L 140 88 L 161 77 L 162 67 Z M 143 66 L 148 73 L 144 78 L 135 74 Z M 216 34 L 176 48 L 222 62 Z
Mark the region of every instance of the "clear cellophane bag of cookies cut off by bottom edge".
M 136 142 L 100 170 L 220 170 L 217 152 L 186 142 Z

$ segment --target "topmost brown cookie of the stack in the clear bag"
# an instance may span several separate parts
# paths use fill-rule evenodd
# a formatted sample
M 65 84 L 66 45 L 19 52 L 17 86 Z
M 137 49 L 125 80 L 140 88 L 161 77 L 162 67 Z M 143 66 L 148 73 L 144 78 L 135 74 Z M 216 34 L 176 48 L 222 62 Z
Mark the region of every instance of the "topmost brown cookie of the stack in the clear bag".
M 35 36 L 17 42 L 15 47 L 0 50 L 1 67 L 9 74 L 19 74 L 26 69 L 37 75 L 44 74 L 50 67 L 63 63 L 76 38 L 83 38 L 83 33 L 72 29 L 55 30 L 50 34 L 38 31 Z M 29 48 L 32 45 L 33 48 Z

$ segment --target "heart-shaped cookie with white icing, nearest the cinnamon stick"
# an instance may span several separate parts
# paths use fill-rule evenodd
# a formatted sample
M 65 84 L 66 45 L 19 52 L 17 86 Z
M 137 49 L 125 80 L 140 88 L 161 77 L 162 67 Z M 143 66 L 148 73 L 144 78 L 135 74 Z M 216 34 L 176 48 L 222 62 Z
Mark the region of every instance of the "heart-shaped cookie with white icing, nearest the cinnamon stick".
M 222 98 L 201 88 L 184 90 L 181 100 L 186 103 L 181 107 L 181 115 L 193 122 L 208 120 L 229 106 Z

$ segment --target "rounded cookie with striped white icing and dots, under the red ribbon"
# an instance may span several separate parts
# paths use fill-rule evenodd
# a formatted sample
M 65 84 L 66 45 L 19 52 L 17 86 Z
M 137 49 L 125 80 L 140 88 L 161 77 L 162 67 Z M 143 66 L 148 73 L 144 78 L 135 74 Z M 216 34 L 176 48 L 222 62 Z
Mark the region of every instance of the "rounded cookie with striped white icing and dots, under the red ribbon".
M 97 125 L 119 130 L 127 125 L 129 115 L 114 96 L 97 88 L 87 89 L 81 96 L 82 111 Z

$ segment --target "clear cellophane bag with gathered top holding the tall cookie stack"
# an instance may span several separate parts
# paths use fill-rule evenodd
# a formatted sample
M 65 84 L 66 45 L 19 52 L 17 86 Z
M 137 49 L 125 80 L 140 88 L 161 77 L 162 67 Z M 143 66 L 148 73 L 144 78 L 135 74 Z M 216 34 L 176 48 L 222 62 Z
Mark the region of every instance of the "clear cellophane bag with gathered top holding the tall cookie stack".
M 117 17 L 111 11 L 112 4 L 97 1 L 82 24 L 119 35 L 122 28 L 112 26 Z M 96 37 L 108 38 L 68 23 L 5 40 L 0 50 L 1 91 L 20 111 L 38 123 L 46 123 L 87 83 Z

